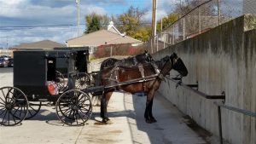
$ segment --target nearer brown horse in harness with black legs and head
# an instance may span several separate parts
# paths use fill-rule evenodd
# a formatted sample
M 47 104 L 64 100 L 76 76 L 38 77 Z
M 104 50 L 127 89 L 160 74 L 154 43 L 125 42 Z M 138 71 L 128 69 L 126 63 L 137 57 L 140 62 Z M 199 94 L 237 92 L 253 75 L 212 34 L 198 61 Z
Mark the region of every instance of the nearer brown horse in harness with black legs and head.
M 161 63 L 164 64 L 161 65 Z M 101 98 L 102 123 L 107 123 L 110 120 L 107 113 L 107 99 L 115 89 L 121 89 L 131 94 L 146 92 L 145 121 L 149 124 L 157 122 L 152 114 L 152 106 L 154 93 L 159 89 L 162 79 L 172 69 L 179 72 L 183 77 L 188 75 L 188 70 L 183 64 L 183 60 L 177 57 L 175 53 L 160 60 L 158 65 L 161 69 L 160 73 L 156 73 L 154 66 L 150 63 L 144 63 L 143 68 L 139 66 L 110 66 L 102 71 L 102 84 L 105 87 Z

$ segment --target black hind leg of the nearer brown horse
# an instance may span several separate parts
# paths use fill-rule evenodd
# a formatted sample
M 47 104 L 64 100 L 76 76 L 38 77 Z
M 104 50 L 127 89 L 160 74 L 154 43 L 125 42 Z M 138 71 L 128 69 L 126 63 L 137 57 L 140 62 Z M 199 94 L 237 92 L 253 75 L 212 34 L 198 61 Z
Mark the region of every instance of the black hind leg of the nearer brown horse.
M 102 117 L 102 122 L 106 123 L 108 122 L 108 112 L 107 112 L 107 96 L 112 95 L 113 92 L 108 92 L 106 94 L 102 95 L 101 99 L 101 117 Z

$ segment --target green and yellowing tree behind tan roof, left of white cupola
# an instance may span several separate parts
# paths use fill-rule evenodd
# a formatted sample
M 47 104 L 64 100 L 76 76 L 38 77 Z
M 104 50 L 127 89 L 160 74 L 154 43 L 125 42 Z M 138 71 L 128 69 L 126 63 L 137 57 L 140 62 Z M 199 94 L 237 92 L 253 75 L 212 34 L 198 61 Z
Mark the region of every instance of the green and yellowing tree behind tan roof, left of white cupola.
M 92 13 L 85 16 L 85 21 L 87 29 L 84 33 L 90 33 L 106 28 L 108 26 L 109 18 L 107 15 Z

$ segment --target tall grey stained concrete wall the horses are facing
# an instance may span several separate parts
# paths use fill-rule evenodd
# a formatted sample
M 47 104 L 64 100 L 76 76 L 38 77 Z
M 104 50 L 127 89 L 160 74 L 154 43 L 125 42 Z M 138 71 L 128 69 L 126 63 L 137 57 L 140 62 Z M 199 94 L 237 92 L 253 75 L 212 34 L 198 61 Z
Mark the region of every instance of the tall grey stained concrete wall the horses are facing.
M 208 95 L 224 91 L 226 105 L 256 112 L 256 30 L 248 30 L 253 27 L 248 20 L 255 21 L 252 15 L 241 16 L 163 49 L 154 54 L 154 59 L 177 52 L 189 70 L 184 84 L 198 81 L 199 90 Z M 218 135 L 218 112 L 213 101 L 182 87 L 176 89 L 175 85 L 172 81 L 163 82 L 161 95 L 197 124 Z M 222 109 L 222 122 L 225 140 L 232 144 L 256 143 L 256 118 Z

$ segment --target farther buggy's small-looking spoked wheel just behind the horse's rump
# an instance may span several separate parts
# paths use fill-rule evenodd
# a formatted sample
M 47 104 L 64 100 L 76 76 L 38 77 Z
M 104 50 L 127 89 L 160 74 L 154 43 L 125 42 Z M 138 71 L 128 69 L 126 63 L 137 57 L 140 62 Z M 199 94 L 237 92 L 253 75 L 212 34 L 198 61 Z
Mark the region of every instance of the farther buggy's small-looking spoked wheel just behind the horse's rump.
M 86 89 L 90 86 L 90 75 L 85 72 L 79 72 L 76 76 L 76 89 Z

